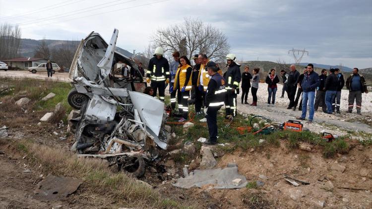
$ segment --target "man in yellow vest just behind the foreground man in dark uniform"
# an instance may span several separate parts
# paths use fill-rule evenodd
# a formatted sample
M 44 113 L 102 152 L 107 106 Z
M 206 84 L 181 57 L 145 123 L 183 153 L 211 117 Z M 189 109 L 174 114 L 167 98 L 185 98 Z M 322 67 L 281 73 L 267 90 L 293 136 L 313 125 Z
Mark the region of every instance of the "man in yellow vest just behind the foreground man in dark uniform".
M 205 93 L 207 91 L 208 83 L 209 83 L 209 75 L 207 72 L 207 68 L 211 66 L 216 66 L 216 63 L 213 61 L 210 61 L 205 53 L 201 53 L 198 56 L 199 62 L 200 62 L 200 70 L 197 77 L 196 85 L 202 94 L 202 101 L 205 101 Z M 197 101 L 195 101 L 196 103 Z M 196 111 L 196 114 L 202 114 L 202 112 Z

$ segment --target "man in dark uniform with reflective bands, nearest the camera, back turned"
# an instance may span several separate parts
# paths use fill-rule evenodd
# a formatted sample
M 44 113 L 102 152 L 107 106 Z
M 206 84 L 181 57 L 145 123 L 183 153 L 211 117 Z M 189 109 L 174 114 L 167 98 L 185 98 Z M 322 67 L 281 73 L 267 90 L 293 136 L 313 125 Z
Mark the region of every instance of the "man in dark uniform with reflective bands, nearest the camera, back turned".
M 204 143 L 208 145 L 217 144 L 217 112 L 225 104 L 225 79 L 217 71 L 215 65 L 207 67 L 210 80 L 205 96 L 204 113 L 207 118 L 209 140 Z

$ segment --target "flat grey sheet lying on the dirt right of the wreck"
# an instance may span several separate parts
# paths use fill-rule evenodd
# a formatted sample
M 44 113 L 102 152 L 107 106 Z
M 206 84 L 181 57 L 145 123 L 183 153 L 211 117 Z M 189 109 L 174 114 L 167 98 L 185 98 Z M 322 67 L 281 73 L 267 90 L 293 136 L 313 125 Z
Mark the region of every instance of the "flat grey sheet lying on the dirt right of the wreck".
M 185 178 L 177 179 L 172 185 L 184 189 L 201 188 L 205 185 L 212 185 L 214 189 L 238 189 L 247 186 L 247 183 L 246 177 L 238 173 L 238 166 L 235 164 L 224 169 L 194 170 L 193 174 L 189 173 Z

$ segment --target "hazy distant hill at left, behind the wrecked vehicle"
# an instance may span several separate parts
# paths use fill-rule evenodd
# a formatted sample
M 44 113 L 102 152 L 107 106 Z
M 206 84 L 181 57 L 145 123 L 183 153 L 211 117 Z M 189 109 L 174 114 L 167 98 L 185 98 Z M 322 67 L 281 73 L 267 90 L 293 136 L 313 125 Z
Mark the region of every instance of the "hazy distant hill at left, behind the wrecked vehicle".
M 20 56 L 23 57 L 32 57 L 34 55 L 35 49 L 40 45 L 42 40 L 34 40 L 34 39 L 22 39 L 21 47 L 20 47 Z M 63 44 L 65 44 L 67 41 L 64 40 L 45 40 L 45 42 L 48 44 L 50 48 L 61 48 Z M 68 41 L 72 43 L 78 44 L 80 41 Z M 120 48 L 116 47 L 116 50 L 119 53 L 122 53 L 123 55 L 127 57 L 131 57 L 133 54 Z

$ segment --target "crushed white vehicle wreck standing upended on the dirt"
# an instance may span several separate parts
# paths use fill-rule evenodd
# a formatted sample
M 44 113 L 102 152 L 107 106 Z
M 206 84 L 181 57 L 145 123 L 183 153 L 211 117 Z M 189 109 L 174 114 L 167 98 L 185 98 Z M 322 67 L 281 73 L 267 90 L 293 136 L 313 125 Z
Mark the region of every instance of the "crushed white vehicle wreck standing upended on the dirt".
M 114 76 L 113 66 L 119 61 L 138 71 L 131 59 L 115 52 L 117 38 L 117 29 L 109 44 L 92 32 L 75 53 L 69 77 L 80 113 L 71 120 L 76 139 L 72 149 L 79 157 L 106 158 L 110 165 L 140 177 L 146 160 L 167 149 L 167 115 L 163 102 L 141 93 L 146 86 L 142 78 Z

